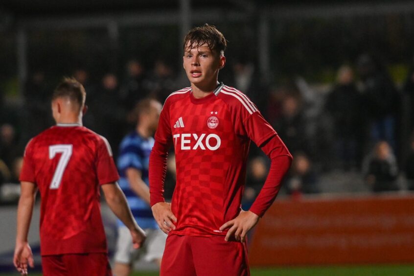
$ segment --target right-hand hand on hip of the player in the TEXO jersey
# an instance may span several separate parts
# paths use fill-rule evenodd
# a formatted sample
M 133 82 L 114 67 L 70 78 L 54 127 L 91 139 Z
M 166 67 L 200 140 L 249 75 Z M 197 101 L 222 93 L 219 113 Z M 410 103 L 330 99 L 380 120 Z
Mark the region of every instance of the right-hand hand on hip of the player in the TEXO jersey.
M 259 221 L 259 216 L 251 211 L 241 210 L 240 214 L 220 227 L 220 230 L 229 229 L 226 237 L 226 241 L 230 240 L 231 235 L 234 235 L 236 241 L 244 242 L 246 240 L 246 235 L 249 230 L 251 230 Z

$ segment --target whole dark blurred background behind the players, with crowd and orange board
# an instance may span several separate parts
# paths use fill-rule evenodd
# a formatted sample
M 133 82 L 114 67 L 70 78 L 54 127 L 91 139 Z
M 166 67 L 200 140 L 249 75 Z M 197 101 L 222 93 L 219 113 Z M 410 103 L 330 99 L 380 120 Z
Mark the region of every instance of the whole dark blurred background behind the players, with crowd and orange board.
M 85 86 L 84 125 L 116 158 L 139 99 L 163 102 L 189 86 L 182 41 L 204 23 L 228 40 L 219 80 L 249 95 L 294 156 L 252 233 L 253 275 L 373 264 L 413 275 L 414 2 L 398 0 L 1 0 L 0 271 L 11 269 L 24 146 L 53 125 L 59 80 Z M 250 155 L 244 208 L 269 167 L 255 145 Z M 116 226 L 103 210 L 112 252 Z M 38 218 L 37 206 L 30 240 L 40 265 Z

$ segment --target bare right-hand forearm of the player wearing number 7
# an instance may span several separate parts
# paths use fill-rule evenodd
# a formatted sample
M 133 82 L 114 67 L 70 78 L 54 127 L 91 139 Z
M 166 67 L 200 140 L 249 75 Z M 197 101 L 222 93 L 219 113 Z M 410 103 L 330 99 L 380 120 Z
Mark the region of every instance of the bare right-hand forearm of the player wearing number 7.
M 114 212 L 115 216 L 122 221 L 128 229 L 137 228 L 131 209 L 128 206 L 125 195 L 117 184 L 111 192 L 105 193 L 105 198 L 108 206 Z M 105 190 L 104 190 L 105 192 Z

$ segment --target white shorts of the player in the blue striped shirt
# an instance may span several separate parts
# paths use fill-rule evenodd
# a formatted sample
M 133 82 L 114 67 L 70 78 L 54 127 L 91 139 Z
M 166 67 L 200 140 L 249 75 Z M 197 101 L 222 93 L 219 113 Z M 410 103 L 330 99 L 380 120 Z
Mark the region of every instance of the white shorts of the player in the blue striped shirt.
M 143 247 L 134 249 L 129 229 L 125 226 L 118 227 L 118 240 L 116 241 L 115 262 L 132 264 L 135 259 L 143 256 L 150 262 L 161 259 L 164 253 L 167 234 L 160 229 L 144 229 L 147 239 Z

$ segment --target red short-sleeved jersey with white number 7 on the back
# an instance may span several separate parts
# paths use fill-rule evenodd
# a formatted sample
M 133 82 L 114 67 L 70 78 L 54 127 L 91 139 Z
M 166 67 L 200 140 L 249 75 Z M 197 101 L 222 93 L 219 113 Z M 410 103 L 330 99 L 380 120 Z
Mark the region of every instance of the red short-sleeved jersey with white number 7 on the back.
M 119 178 L 108 141 L 79 124 L 57 124 L 31 139 L 20 181 L 41 195 L 42 255 L 107 252 L 100 185 Z

